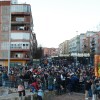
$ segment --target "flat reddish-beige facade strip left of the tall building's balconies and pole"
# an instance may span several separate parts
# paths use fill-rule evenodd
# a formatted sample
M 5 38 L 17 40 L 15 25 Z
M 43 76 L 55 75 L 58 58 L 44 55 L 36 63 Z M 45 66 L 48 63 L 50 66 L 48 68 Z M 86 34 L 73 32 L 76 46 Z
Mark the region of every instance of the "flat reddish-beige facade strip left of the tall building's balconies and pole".
M 5 61 L 10 54 L 10 9 L 10 0 L 0 1 L 0 65 L 5 65 Z

